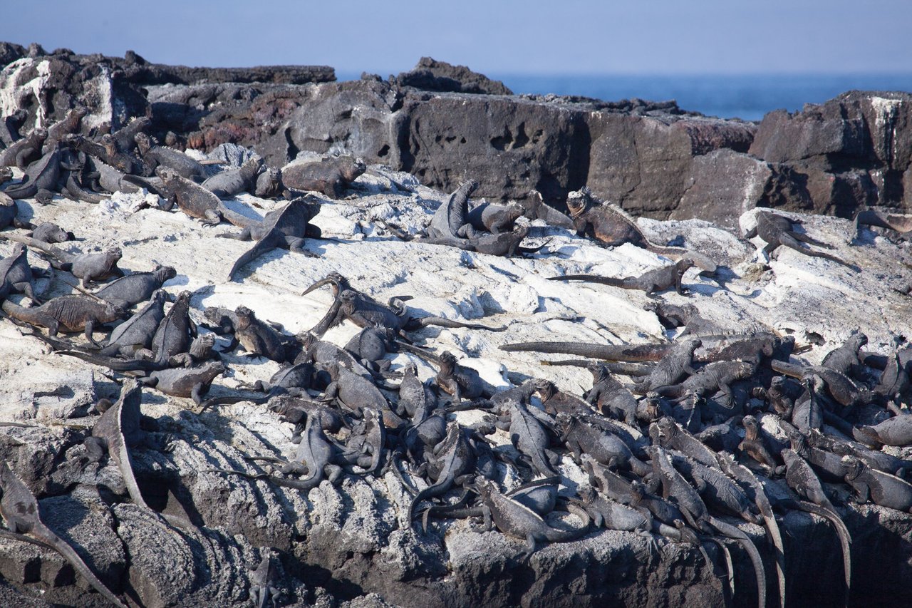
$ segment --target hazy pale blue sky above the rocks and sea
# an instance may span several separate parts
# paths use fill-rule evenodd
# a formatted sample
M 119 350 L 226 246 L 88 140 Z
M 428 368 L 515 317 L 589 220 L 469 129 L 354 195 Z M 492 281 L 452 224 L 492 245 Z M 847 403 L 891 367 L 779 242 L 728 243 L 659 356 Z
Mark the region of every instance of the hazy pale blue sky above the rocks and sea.
M 422 56 L 494 78 L 908 73 L 910 25 L 910 0 L 26 0 L 4 11 L 0 40 L 114 56 L 132 49 L 154 63 L 328 65 L 384 77 Z

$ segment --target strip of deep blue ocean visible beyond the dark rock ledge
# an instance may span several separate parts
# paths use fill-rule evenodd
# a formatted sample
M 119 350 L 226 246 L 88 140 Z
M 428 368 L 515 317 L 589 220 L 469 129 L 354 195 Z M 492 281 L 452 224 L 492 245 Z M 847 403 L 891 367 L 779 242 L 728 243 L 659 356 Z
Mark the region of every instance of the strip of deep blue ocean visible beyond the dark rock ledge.
M 516 94 L 579 95 L 596 100 L 675 100 L 681 110 L 707 116 L 760 121 L 772 110 L 790 112 L 805 103 L 823 103 L 847 90 L 912 92 L 912 72 L 906 74 L 487 74 Z M 337 71 L 337 79 L 360 78 L 360 73 Z

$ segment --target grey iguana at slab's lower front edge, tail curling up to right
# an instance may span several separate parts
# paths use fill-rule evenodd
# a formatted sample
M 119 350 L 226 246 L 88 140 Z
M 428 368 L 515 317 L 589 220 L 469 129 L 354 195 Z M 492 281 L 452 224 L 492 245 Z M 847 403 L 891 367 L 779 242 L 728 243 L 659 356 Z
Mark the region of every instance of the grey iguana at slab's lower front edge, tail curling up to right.
M 555 529 L 546 524 L 544 519 L 531 508 L 503 495 L 490 479 L 476 477 L 473 486 L 482 501 L 485 529 L 491 529 L 493 523 L 504 534 L 525 539 L 526 550 L 523 551 L 523 558 L 527 558 L 534 552 L 536 542 L 542 540 L 569 542 L 584 536 L 589 531 L 587 516 L 583 518 L 581 528 Z

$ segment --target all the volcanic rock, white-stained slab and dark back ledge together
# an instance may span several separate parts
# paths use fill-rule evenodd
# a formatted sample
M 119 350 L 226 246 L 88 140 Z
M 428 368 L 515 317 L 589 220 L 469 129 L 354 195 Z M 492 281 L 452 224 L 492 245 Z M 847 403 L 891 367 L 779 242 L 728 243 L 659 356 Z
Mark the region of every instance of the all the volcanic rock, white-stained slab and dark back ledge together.
M 409 331 L 415 345 L 431 353 L 456 353 L 461 365 L 497 391 L 534 378 L 547 378 L 575 395 L 592 386 L 585 368 L 543 364 L 570 355 L 504 351 L 507 344 L 685 340 L 682 328 L 662 325 L 656 299 L 642 292 L 548 280 L 580 273 L 637 276 L 667 264 L 646 249 L 629 243 L 605 247 L 567 227 L 528 218 L 519 219 L 528 228 L 523 245 L 539 249 L 515 257 L 396 236 L 426 230 L 440 205 L 451 202 L 449 193 L 471 177 L 479 182 L 475 203 L 516 200 L 528 211 L 530 191 L 537 189 L 546 203 L 566 209 L 566 194 L 588 184 L 597 196 L 643 215 L 636 225 L 650 242 L 683 245 L 719 265 L 714 272 L 690 268 L 683 280 L 689 296 L 670 290 L 658 301 L 697 306 L 721 334 L 772 332 L 791 338 L 798 347 L 793 363 L 823 363 L 855 331 L 865 334 L 866 352 L 889 357 L 912 332 L 908 243 L 894 232 L 872 232 L 844 219 L 871 205 L 908 206 L 906 94 L 848 93 L 796 115 L 774 112 L 757 125 L 710 119 L 668 103 L 516 97 L 500 83 L 431 60 L 390 81 L 366 77 L 316 84 L 331 74 L 317 68 L 192 72 L 149 68 L 136 57 L 47 56 L 10 45 L 3 58 L 12 58 L 0 73 L 3 117 L 23 110 L 15 121 L 5 121 L 10 139 L 32 131 L 36 121 L 47 126 L 83 105 L 88 139 L 100 139 L 105 125 L 117 133 L 131 118 L 146 116 L 148 132 L 161 142 L 171 138 L 175 150 L 187 145 L 186 153 L 207 174 L 239 168 L 251 151 L 272 167 L 295 157 L 299 164 L 319 161 L 320 154 L 331 152 L 353 153 L 367 162 L 338 186 L 338 196 L 327 194 L 332 188 L 308 189 L 305 198 L 318 204 L 318 213 L 307 223 L 319 228 L 320 237 L 308 233 L 302 248 L 316 257 L 274 249 L 234 278 L 228 268 L 251 247 L 223 238 L 236 229 L 165 211 L 164 200 L 149 189 L 104 195 L 98 204 L 57 193 L 50 204 L 34 196 L 16 201 L 22 220 L 52 221 L 76 233 L 80 241 L 57 245 L 67 252 L 120 247 L 119 264 L 128 271 L 176 267 L 177 276 L 163 288 L 171 297 L 192 294 L 189 315 L 201 328 L 210 321 L 204 316 L 208 308 L 246 306 L 259 319 L 281 324 L 285 338 L 300 337 L 333 303 L 328 289 L 300 294 L 335 272 L 379 302 L 414 296 L 405 301 L 416 317 L 505 326 L 503 332 L 432 325 Z M 257 80 L 262 78 L 273 83 Z M 312 83 L 301 84 L 302 79 Z M 334 162 L 322 160 L 321 166 Z M 14 178 L 21 176 L 17 169 Z M 278 196 L 248 192 L 223 200 L 226 215 L 256 218 L 285 204 Z M 801 234 L 832 246 L 827 251 L 845 265 L 785 247 L 767 257 L 759 237 L 742 236 L 757 224 L 763 212 L 757 207 L 770 206 L 824 214 L 783 215 L 802 220 Z M 4 259 L 13 245 L 0 242 Z M 74 292 L 75 279 L 67 271 L 52 269 L 34 252 L 28 255 L 33 266 L 47 270 L 47 277 L 35 280 L 43 301 Z M 324 338 L 342 346 L 359 330 L 349 320 Z M 0 420 L 32 425 L 0 427 L 0 454 L 39 498 L 47 526 L 130 605 L 249 605 L 254 571 L 267 550 L 274 551 L 275 588 L 281 592 L 276 605 L 283 606 L 757 603 L 749 556 L 731 541 L 725 544 L 737 583 L 733 596 L 723 552 L 710 544 L 708 563 L 687 543 L 663 540 L 655 547 L 648 535 L 593 529 L 581 540 L 540 544 L 526 559 L 523 540 L 468 521 L 432 520 L 422 532 L 420 521 L 408 516 L 408 487 L 389 467 L 371 475 L 347 473 L 337 484 L 324 480 L 307 491 L 220 474 L 215 469 L 261 470 L 249 456 L 295 457 L 295 425 L 275 408 L 252 401 L 203 408 L 189 398 L 143 388 L 142 426 L 149 442 L 130 448 L 150 507 L 142 508 L 128 497 L 115 459 L 87 464 L 83 445 L 98 420 L 96 402 L 116 402 L 126 386 L 124 374 L 57 354 L 10 320 L 0 322 L 0 336 L 5 363 Z M 229 338 L 215 341 L 224 348 Z M 246 343 L 244 348 L 250 349 Z M 208 398 L 215 400 L 248 390 L 280 367 L 238 351 L 224 352 L 221 359 L 227 372 L 212 385 Z M 439 371 L 414 354 L 391 353 L 386 360 L 389 370 L 399 372 L 415 364 L 420 381 L 431 382 Z M 874 383 L 880 372 L 868 373 Z M 379 390 L 398 404 L 401 394 L 386 384 L 380 382 Z M 450 399 L 440 396 L 441 402 Z M 534 397 L 529 407 L 541 405 Z M 772 406 L 753 398 L 744 408 L 759 417 L 773 440 L 788 445 Z M 853 424 L 871 425 L 885 414 L 865 404 L 851 415 Z M 470 428 L 484 413 L 470 409 L 448 417 L 451 425 Z M 820 427 L 839 435 L 830 425 Z M 648 425 L 629 432 L 635 449 L 648 445 Z M 738 426 L 735 434 L 741 438 L 744 431 Z M 354 430 L 336 438 L 352 435 Z M 506 464 L 520 456 L 510 433 L 488 436 L 494 452 L 506 459 L 499 465 L 503 489 L 522 483 L 524 468 Z M 909 456 L 906 447 L 885 449 Z M 559 451 L 559 494 L 574 498 L 591 480 L 565 449 Z M 425 483 L 409 473 L 411 483 Z M 793 496 L 781 474 L 764 478 L 763 487 L 772 498 Z M 849 603 L 912 601 L 905 584 L 912 518 L 891 508 L 852 504 L 845 483 L 826 489 L 853 540 Z M 454 489 L 446 497 L 459 494 Z M 156 513 L 192 525 L 169 527 Z M 578 524 L 565 511 L 546 519 L 555 528 Z M 722 519 L 758 548 L 767 604 L 779 603 L 775 550 L 763 527 Z M 779 526 L 785 541 L 783 603 L 843 603 L 843 561 L 834 529 L 799 510 L 785 511 Z M 87 592 L 85 580 L 57 553 L 21 540 L 0 539 L 0 577 L 0 603 L 109 605 Z

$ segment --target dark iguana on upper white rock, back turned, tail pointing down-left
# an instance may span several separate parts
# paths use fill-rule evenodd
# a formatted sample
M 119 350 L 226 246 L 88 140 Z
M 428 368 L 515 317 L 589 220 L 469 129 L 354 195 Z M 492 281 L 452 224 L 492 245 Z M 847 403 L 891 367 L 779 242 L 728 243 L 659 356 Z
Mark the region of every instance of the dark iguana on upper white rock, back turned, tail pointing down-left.
M 309 224 L 320 211 L 319 203 L 311 198 L 295 198 L 289 201 L 282 209 L 270 211 L 262 222 L 250 221 L 240 235 L 230 236 L 240 240 L 253 239 L 256 244 L 244 252 L 234 261 L 228 278 L 249 264 L 257 257 L 262 256 L 270 249 L 277 247 L 287 248 L 289 251 L 316 257 L 315 253 L 304 249 L 305 237 L 319 238 L 322 236 L 316 225 Z M 228 236 L 228 235 L 222 235 Z

